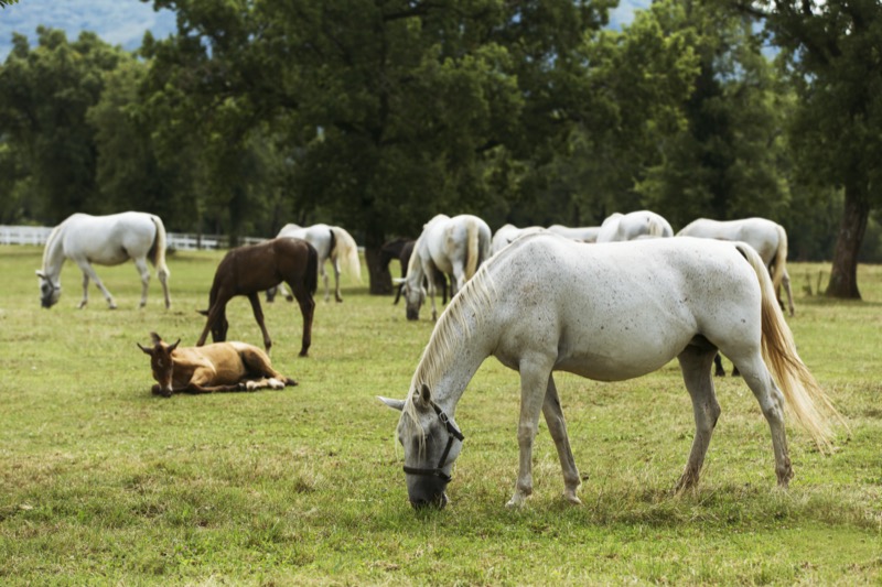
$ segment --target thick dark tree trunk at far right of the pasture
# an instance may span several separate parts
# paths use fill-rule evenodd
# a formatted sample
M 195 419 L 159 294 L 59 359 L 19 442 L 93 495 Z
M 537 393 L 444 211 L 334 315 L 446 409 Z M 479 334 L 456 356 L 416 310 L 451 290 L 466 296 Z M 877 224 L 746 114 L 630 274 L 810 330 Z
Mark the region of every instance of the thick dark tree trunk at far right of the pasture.
M 842 222 L 836 239 L 830 283 L 827 285 L 828 297 L 861 298 L 858 291 L 858 252 L 869 217 L 870 203 L 865 191 L 858 183 L 847 185 Z

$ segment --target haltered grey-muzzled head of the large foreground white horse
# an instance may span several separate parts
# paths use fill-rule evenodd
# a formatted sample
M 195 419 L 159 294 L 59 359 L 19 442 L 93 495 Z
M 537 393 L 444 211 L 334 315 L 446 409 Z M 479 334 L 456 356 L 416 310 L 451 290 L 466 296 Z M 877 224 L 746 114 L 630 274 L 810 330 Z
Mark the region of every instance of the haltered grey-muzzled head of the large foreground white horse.
M 401 412 L 398 421 L 398 442 L 405 449 L 405 477 L 410 504 L 443 508 L 448 503 L 444 490 L 451 479 L 453 461 L 462 450 L 463 435 L 456 423 L 432 400 L 423 384 L 412 392 L 411 401 L 379 400 Z

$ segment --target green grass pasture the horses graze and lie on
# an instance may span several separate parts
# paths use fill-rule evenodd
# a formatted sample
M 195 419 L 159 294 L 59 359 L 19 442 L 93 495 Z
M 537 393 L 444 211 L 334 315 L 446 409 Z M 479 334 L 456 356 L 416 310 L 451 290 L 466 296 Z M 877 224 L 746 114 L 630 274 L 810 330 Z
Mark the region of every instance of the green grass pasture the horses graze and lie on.
M 796 477 L 775 488 L 768 427 L 742 381 L 718 380 L 720 417 L 696 492 L 671 489 L 692 438 L 676 362 L 642 379 L 558 376 L 582 507 L 560 497 L 544 427 L 535 494 L 508 510 L 517 373 L 487 360 L 460 402 L 466 439 L 443 511 L 407 502 L 397 413 L 432 324 L 347 282 L 316 297 L 311 357 L 294 304 L 265 305 L 273 365 L 297 388 L 150 393 L 136 343 L 195 343 L 216 252 L 170 257 L 172 309 L 131 264 L 98 268 L 119 309 L 63 272 L 39 303 L 42 250 L 0 247 L 0 584 L 882 584 L 882 268 L 861 303 L 810 296 L 829 268 L 790 268 L 800 355 L 850 426 L 820 454 L 788 426 Z M 397 268 L 395 268 L 397 271 Z M 260 344 L 245 298 L 232 339 Z M 727 363 L 728 366 L 728 363 Z

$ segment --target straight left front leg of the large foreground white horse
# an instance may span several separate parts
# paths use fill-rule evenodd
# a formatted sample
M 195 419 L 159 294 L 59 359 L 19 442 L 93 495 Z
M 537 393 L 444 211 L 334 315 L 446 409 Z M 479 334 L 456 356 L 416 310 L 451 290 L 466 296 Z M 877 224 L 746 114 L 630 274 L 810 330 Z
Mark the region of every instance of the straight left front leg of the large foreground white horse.
M 521 359 L 520 367 L 520 417 L 517 426 L 519 449 L 517 482 L 507 508 L 523 506 L 533 493 L 533 443 L 539 428 L 539 414 L 545 403 L 551 368 L 547 361 L 535 358 Z

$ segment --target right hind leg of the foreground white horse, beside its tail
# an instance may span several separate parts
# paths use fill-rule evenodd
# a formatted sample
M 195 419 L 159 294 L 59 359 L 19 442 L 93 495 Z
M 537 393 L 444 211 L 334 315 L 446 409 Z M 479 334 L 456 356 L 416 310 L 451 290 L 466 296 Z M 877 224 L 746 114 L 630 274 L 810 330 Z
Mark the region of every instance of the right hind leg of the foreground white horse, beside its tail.
M 787 452 L 787 435 L 784 430 L 784 395 L 775 385 L 768 368 L 759 351 L 746 359 L 734 361 L 741 377 L 751 388 L 763 411 L 768 428 L 772 432 L 772 447 L 775 452 L 775 474 L 778 486 L 786 488 L 793 478 L 793 467 Z

